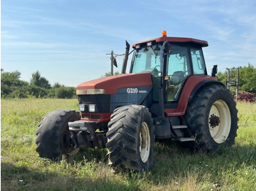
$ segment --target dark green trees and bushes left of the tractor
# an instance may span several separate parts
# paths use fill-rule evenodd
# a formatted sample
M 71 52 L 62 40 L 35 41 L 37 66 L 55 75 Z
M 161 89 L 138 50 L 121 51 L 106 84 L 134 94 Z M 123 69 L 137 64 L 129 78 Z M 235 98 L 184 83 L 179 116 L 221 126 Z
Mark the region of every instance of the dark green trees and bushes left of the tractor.
M 32 74 L 30 82 L 20 79 L 20 71 L 1 69 L 1 98 L 74 98 L 75 87 L 56 82 L 53 86 L 39 71 Z

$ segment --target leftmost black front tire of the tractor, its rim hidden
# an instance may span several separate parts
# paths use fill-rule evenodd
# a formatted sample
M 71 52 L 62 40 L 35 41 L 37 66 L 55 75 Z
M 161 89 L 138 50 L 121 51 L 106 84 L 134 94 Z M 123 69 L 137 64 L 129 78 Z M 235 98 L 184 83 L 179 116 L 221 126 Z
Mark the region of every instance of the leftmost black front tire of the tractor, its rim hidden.
M 79 112 L 59 109 L 42 117 L 37 130 L 37 152 L 40 157 L 54 159 L 62 155 L 71 156 L 79 152 L 70 138 L 68 122 L 80 120 Z

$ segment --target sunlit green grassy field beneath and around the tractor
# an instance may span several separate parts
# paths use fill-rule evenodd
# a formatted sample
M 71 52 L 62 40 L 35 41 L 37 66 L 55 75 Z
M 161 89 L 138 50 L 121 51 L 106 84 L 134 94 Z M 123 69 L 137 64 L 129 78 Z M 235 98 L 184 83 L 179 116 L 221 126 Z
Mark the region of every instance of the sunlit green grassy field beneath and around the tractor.
M 256 104 L 238 103 L 236 144 L 206 154 L 176 141 L 156 144 L 149 174 L 113 174 L 105 149 L 79 152 L 69 162 L 39 158 L 35 132 L 54 109 L 77 100 L 1 100 L 1 190 L 256 190 Z

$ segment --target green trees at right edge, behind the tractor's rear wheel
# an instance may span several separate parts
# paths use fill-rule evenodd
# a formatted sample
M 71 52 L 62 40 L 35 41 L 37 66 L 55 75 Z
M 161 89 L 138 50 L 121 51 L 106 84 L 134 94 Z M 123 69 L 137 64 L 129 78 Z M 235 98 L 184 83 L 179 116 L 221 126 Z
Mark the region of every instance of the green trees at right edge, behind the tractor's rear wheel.
M 230 70 L 230 74 L 233 77 L 230 77 L 230 80 L 234 80 L 236 82 L 236 70 Z M 252 66 L 251 63 L 248 63 L 248 66 L 241 67 L 239 69 L 239 90 L 244 90 L 249 93 L 256 93 L 256 68 Z M 219 71 L 217 74 L 217 79 L 226 85 L 227 81 L 227 73 Z M 235 87 L 233 89 L 235 90 Z

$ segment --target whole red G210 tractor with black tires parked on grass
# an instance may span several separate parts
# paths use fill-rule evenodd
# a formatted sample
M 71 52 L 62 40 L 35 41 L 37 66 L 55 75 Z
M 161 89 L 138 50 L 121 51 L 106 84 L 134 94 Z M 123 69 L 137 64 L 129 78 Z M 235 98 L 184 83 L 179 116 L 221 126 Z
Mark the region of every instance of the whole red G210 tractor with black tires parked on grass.
M 208 42 L 161 37 L 132 45 L 126 74 L 78 85 L 79 112 L 49 112 L 39 123 L 37 152 L 50 159 L 79 149 L 107 148 L 109 165 L 148 171 L 155 139 L 197 144 L 206 152 L 231 146 L 236 138 L 236 102 L 217 81 L 217 66 L 207 75 L 202 47 Z

